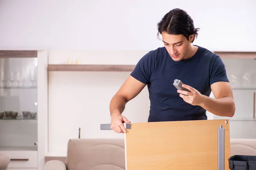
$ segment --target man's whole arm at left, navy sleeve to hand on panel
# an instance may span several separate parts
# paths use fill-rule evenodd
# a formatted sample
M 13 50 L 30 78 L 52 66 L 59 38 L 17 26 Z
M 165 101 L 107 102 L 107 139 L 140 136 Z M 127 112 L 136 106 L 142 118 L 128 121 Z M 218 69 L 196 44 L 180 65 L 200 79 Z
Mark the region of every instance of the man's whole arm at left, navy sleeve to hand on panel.
M 154 55 L 153 55 L 154 57 Z M 150 82 L 154 61 L 151 53 L 148 52 L 143 56 L 131 72 L 130 76 L 125 80 L 121 88 L 113 96 L 110 102 L 111 129 L 117 133 L 125 133 L 123 123 L 130 123 L 122 112 L 125 105 L 131 99 L 136 97 L 143 88 Z

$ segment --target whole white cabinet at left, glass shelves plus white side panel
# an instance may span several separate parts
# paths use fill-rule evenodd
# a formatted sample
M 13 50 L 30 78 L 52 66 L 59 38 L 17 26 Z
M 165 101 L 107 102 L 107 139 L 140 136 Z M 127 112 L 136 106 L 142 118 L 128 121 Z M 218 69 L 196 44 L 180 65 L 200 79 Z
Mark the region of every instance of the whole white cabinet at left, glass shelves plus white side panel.
M 47 51 L 0 51 L 0 153 L 11 158 L 8 170 L 44 166 L 47 62 Z

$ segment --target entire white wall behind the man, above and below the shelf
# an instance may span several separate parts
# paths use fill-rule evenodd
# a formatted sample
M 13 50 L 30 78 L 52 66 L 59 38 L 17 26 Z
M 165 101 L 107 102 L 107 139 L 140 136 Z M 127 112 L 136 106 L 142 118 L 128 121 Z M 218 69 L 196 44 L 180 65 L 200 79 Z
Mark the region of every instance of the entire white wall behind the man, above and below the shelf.
M 172 8 L 183 8 L 193 18 L 195 27 L 201 28 L 196 45 L 212 51 L 255 51 L 256 2 L 207 3 L 203 0 L 0 0 L 0 49 L 96 49 L 100 50 L 97 54 L 93 51 L 84 56 L 79 52 L 51 51 L 49 63 L 65 63 L 70 57 L 79 58 L 84 64 L 136 64 L 146 51 L 162 46 L 156 37 L 157 22 Z M 65 154 L 67 140 L 78 137 L 79 127 L 82 138 L 122 137 L 100 131 L 99 123 L 110 121 L 110 99 L 128 75 L 128 72 L 51 72 L 49 152 Z M 143 122 L 148 107 L 145 88 L 127 105 L 124 115 L 132 122 Z

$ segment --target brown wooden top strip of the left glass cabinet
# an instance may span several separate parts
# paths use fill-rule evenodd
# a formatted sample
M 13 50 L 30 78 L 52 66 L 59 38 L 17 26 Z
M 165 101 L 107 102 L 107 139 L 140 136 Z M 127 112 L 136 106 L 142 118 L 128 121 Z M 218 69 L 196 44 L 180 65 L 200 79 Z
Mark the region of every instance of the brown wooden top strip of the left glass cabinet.
M 21 58 L 21 57 L 37 57 L 37 51 L 23 50 L 0 50 L 0 58 Z

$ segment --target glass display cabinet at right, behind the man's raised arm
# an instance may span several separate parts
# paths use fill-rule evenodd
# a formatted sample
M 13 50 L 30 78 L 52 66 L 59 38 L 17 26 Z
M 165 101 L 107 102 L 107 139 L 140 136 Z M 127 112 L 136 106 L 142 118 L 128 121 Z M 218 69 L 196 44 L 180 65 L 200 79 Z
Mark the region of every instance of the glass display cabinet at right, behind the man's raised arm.
M 230 119 L 230 138 L 256 139 L 253 130 L 256 128 L 256 53 L 229 52 L 228 55 L 222 61 L 233 90 L 236 112 L 231 118 L 214 115 L 213 119 Z

